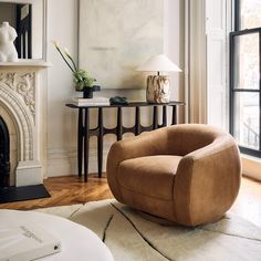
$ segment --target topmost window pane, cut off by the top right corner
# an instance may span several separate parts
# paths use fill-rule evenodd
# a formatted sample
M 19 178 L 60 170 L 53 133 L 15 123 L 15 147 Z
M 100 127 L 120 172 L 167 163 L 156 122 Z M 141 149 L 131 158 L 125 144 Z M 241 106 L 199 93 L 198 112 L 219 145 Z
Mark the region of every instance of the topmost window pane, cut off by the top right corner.
M 240 29 L 261 27 L 261 0 L 240 0 Z

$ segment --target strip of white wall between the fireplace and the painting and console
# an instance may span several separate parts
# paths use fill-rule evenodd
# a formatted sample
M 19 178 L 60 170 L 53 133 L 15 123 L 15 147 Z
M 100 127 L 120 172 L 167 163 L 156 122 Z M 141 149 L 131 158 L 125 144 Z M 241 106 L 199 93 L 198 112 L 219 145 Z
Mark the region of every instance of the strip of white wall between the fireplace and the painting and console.
M 65 102 L 75 95 L 72 73 L 59 56 L 52 41 L 59 41 L 74 58 L 77 56 L 76 13 L 75 0 L 48 1 L 48 61 L 53 64 L 48 75 L 48 176 L 53 176 L 54 171 L 56 175 L 73 171 L 69 168 L 70 150 L 76 143 L 76 117 L 65 107 Z M 63 165 L 64 169 L 61 168 Z

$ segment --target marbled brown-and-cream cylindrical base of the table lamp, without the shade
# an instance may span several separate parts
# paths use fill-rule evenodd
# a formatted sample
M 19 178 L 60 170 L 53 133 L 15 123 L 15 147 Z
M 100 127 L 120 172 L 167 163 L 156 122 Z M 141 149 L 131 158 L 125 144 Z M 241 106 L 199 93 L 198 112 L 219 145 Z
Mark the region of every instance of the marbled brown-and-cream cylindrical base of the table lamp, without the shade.
M 169 102 L 169 76 L 149 75 L 147 77 L 146 98 L 148 103 Z

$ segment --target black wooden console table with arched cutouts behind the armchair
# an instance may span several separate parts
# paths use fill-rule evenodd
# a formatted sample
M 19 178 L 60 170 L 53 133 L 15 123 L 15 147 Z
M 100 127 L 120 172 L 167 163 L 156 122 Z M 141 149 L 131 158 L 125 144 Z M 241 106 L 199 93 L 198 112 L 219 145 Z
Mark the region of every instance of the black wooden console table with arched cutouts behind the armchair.
M 156 128 L 167 126 L 167 106 L 173 107 L 171 124 L 177 124 L 177 106 L 185 105 L 184 102 L 169 102 L 167 104 L 149 104 L 145 102 L 129 103 L 128 105 L 97 105 L 97 106 L 77 106 L 74 104 L 66 104 L 67 107 L 79 109 L 77 123 L 77 168 L 79 177 L 82 177 L 82 160 L 84 166 L 84 181 L 87 181 L 88 173 L 88 139 L 92 136 L 97 137 L 97 160 L 98 160 L 98 177 L 102 177 L 103 170 L 103 136 L 106 134 L 115 134 L 117 140 L 121 140 L 123 134 L 133 133 L 138 135 L 143 132 L 149 132 Z M 140 124 L 140 107 L 153 106 L 153 124 L 143 126 Z M 158 124 L 158 106 L 163 107 L 161 119 Z M 117 126 L 114 128 L 106 128 L 103 124 L 103 108 L 117 108 Z M 133 127 L 124 127 L 122 123 L 122 108 L 135 107 L 135 125 Z M 96 128 L 90 129 L 90 109 L 98 109 L 98 124 Z

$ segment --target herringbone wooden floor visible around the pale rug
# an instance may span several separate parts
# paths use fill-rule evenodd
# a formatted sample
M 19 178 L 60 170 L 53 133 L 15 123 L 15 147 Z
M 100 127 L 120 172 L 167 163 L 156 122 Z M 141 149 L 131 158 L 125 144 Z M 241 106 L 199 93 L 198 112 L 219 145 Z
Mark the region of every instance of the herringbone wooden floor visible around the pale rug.
M 0 209 L 35 209 L 113 198 L 106 178 L 90 177 L 83 182 L 76 176 L 44 180 L 51 198 L 0 203 Z M 261 182 L 242 178 L 239 196 L 231 210 L 261 227 Z

